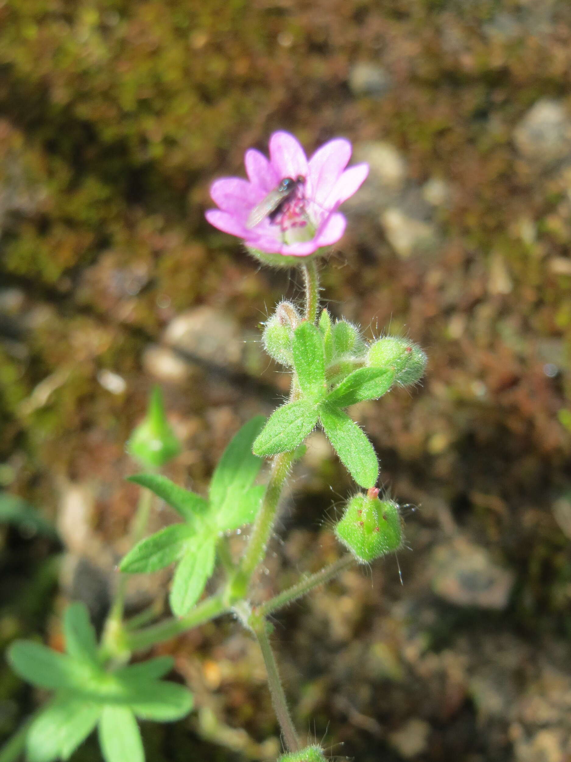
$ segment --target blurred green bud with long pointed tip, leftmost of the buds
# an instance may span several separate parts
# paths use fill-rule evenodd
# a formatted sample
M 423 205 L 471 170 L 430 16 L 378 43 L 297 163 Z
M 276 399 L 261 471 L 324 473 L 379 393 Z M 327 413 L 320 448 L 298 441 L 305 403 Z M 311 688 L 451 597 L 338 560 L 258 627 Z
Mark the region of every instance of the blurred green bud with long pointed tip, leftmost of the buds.
M 126 450 L 142 466 L 152 469 L 161 468 L 180 453 L 180 442 L 167 421 L 163 395 L 158 386 L 152 390 L 147 415 L 133 430 Z

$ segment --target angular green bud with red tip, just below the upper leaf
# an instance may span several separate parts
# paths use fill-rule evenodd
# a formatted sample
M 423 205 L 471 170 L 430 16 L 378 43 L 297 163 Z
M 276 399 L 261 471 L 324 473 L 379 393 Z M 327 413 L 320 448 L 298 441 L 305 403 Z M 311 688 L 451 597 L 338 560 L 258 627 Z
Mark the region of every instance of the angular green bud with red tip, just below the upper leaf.
M 378 559 L 403 544 L 398 505 L 392 500 L 379 500 L 378 488 L 372 487 L 366 495 L 349 500 L 335 533 L 358 561 Z

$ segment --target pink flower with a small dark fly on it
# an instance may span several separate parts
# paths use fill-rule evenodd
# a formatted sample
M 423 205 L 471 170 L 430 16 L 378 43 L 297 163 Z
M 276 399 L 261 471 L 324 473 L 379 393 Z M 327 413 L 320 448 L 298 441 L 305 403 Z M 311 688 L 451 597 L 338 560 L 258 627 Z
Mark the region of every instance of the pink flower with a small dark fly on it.
M 212 183 L 210 195 L 219 209 L 209 209 L 206 219 L 243 239 L 248 248 L 307 257 L 337 243 L 345 232 L 346 219 L 337 208 L 368 175 L 367 164 L 346 169 L 349 158 L 351 143 L 344 138 L 325 143 L 308 161 L 293 135 L 273 133 L 270 161 L 255 149 L 247 150 L 247 180 L 222 178 Z M 292 182 L 282 184 L 286 178 Z M 279 187 L 281 196 L 273 194 L 270 203 L 268 194 Z M 270 207 L 276 208 L 268 212 Z

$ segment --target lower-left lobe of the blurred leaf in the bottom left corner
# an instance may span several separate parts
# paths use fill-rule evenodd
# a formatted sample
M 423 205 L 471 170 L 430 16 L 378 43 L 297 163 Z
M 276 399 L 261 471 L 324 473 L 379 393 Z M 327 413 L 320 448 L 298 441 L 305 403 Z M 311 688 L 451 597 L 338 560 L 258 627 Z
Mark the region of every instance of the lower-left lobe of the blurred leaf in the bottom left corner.
M 67 760 L 94 730 L 101 706 L 75 696 L 56 696 L 33 720 L 26 737 L 28 762 Z

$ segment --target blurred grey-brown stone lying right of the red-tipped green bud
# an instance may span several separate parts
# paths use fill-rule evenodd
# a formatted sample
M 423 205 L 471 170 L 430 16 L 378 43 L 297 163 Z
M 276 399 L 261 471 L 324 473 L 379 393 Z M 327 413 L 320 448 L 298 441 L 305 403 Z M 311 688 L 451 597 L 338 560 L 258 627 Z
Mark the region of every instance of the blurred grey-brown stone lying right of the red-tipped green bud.
M 503 610 L 514 583 L 512 571 L 493 562 L 483 547 L 458 537 L 435 548 L 432 590 L 457 606 Z

